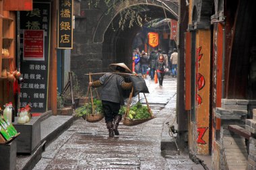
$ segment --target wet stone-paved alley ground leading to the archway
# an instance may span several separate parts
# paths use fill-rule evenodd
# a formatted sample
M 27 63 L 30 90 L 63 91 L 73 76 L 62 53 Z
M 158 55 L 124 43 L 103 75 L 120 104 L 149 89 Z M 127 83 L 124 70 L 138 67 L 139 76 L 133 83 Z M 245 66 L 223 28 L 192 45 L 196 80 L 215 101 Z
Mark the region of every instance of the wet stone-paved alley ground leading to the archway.
M 165 122 L 177 127 L 177 79 L 166 76 L 163 87 L 149 78 L 146 83 L 150 90 L 146 96 L 156 118 L 137 126 L 125 126 L 121 122 L 120 135 L 114 138 L 108 138 L 104 120 L 89 123 L 77 119 L 46 146 L 34 169 L 201 169 L 187 153 L 178 155 L 175 145 L 168 151 L 161 151 L 162 138 L 170 138 Z M 140 101 L 146 102 L 143 94 Z

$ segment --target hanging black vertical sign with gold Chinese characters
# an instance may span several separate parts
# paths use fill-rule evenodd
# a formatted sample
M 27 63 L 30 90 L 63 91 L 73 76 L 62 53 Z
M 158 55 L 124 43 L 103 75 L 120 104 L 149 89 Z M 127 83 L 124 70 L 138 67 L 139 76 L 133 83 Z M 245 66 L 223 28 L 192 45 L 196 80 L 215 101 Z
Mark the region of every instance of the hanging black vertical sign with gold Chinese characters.
M 73 48 L 73 0 L 59 0 L 57 48 Z

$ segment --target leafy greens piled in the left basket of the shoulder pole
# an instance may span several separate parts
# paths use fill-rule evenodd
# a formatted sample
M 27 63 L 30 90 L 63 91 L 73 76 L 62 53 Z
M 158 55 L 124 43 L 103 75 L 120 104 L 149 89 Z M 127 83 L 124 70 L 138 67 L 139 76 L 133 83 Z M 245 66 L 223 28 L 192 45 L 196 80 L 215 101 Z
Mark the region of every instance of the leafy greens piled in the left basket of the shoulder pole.
M 101 100 L 94 99 L 94 114 L 103 114 Z M 75 110 L 75 116 L 82 117 L 92 114 L 92 103 L 86 103 Z

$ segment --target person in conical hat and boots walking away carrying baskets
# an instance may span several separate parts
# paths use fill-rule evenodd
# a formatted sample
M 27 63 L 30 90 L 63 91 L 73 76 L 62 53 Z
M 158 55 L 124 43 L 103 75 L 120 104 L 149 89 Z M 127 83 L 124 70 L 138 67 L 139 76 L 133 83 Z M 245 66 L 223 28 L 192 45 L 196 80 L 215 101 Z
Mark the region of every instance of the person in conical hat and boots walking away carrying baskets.
M 109 67 L 115 73 L 131 73 L 124 63 L 111 64 Z M 89 87 L 102 86 L 100 98 L 109 137 L 113 137 L 114 133 L 119 135 L 117 128 L 122 120 L 119 110 L 125 104 L 121 89 L 131 89 L 133 86 L 132 83 L 125 83 L 124 77 L 115 73 L 106 73 L 98 81 L 89 82 Z

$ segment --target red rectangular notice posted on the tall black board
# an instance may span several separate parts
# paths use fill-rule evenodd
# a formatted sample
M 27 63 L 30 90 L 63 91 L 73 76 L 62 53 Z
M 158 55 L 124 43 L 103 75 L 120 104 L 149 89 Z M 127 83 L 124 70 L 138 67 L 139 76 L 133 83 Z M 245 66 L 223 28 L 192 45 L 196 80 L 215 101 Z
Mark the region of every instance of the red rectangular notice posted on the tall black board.
M 24 30 L 23 60 L 44 60 L 44 30 Z

